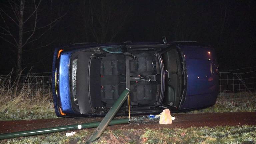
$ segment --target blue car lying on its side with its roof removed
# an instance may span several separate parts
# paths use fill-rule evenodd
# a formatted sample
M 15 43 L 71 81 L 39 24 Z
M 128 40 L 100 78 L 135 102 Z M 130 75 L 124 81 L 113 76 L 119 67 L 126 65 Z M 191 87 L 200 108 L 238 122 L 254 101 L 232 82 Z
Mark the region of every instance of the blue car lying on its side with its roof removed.
M 214 105 L 215 51 L 191 41 L 78 43 L 55 49 L 52 89 L 57 116 L 103 116 L 126 88 L 131 114 Z M 125 102 L 117 114 L 128 114 L 128 108 Z

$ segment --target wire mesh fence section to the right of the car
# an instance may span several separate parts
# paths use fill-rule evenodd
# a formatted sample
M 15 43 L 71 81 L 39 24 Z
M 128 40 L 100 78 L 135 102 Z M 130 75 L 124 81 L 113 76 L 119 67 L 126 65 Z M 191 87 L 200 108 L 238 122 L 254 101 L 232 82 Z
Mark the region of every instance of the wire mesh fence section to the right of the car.
M 219 71 L 219 93 L 223 99 L 255 101 L 256 67 Z

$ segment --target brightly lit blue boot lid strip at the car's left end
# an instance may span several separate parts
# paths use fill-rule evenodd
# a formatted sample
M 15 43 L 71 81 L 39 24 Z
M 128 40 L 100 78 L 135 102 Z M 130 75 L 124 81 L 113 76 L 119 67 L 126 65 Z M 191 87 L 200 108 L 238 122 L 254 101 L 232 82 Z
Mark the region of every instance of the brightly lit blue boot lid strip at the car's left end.
M 59 65 L 59 97 L 63 113 L 74 113 L 71 107 L 69 88 L 69 61 L 71 53 L 61 54 Z

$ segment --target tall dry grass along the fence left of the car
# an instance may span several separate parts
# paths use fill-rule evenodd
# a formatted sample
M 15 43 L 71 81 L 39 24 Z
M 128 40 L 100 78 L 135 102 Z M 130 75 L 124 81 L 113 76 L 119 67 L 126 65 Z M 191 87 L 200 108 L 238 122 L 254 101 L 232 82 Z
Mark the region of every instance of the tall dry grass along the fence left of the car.
M 35 75 L 1 76 L 0 96 L 0 120 L 56 118 L 51 91 Z

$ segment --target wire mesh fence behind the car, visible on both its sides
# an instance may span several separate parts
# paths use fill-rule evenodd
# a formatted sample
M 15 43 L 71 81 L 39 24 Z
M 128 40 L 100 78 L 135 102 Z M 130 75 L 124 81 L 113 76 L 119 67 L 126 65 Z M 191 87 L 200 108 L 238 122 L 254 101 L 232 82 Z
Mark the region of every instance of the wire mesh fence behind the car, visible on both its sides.
M 42 94 L 52 92 L 51 72 L 28 73 L 0 76 L 0 89 L 15 93 L 24 90 L 24 86 L 31 91 L 38 91 Z M 256 66 L 242 69 L 219 71 L 219 96 L 226 99 L 256 100 Z M 33 95 L 33 93 L 31 93 Z

